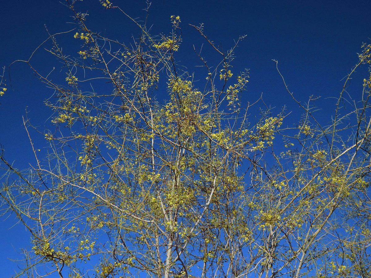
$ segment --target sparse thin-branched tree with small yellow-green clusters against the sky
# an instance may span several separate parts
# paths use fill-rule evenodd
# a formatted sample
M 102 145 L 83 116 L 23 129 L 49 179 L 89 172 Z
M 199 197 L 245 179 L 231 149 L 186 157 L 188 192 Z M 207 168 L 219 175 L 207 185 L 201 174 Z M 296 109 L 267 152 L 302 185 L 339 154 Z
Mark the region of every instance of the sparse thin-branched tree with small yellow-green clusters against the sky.
M 295 127 L 268 108 L 252 124 L 252 105 L 240 102 L 249 73 L 231 64 L 243 37 L 224 52 L 193 26 L 220 57 L 210 66 L 199 55 L 196 87 L 176 62 L 178 16 L 168 36 L 133 19 L 141 35 L 124 44 L 90 30 L 74 2 L 79 57 L 49 37 L 65 83 L 35 70 L 55 90 L 54 128 L 40 131 L 48 153 L 40 158 L 29 136 L 31 169 L 1 155 L 3 215 L 33 246 L 17 277 L 370 277 L 371 75 L 354 109 L 343 104 L 371 45 L 329 125 L 314 98 L 302 105 L 285 83 L 303 110 Z

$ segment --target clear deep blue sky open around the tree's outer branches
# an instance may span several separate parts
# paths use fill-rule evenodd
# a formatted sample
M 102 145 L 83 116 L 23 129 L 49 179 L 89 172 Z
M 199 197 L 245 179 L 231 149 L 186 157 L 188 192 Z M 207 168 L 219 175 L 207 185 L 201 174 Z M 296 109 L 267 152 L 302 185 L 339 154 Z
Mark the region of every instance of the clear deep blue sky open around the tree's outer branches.
M 25 63 L 33 50 L 47 38 L 45 26 L 50 33 L 64 32 L 75 28 L 71 13 L 62 3 L 64 0 L 49 1 L 3 1 L 1 3 L 0 66 L 6 66 L 7 88 L 0 97 L 0 144 L 8 161 L 17 168 L 27 168 L 34 163 L 23 128 L 22 116 L 28 117 L 35 126 L 48 125 L 51 111 L 44 101 L 53 92 L 47 89 L 33 75 Z M 130 16 L 143 18 L 145 1 L 112 0 Z M 84 0 L 76 4 L 81 12 L 88 11 L 90 27 L 105 36 L 127 42 L 137 37 L 139 30 L 115 10 L 106 11 L 98 0 Z M 365 12 L 366 10 L 366 12 Z M 188 24 L 204 23 L 204 32 L 215 44 L 229 49 L 233 40 L 247 35 L 236 50 L 233 67 L 237 71 L 250 69 L 250 82 L 246 100 L 254 101 L 261 93 L 268 105 L 277 111 L 286 105 L 288 112 L 299 116 L 298 105 L 288 97 L 275 63 L 279 61 L 289 89 L 301 102 L 309 96 L 322 96 L 316 102 L 326 122 L 340 92 L 341 81 L 358 61 L 357 52 L 361 44 L 370 44 L 371 24 L 367 16 L 368 7 L 364 1 L 153 1 L 149 11 L 151 34 L 167 33 L 171 29 L 171 15 L 180 16 L 183 44 L 179 60 L 183 60 L 189 72 L 199 65 L 193 52 L 193 45 L 200 49 L 205 40 Z M 73 32 L 70 33 L 72 37 Z M 70 37 L 59 37 L 62 47 L 71 47 Z M 47 45 L 46 45 L 47 46 Z M 45 46 L 45 47 L 46 47 Z M 73 46 L 73 45 L 72 45 Z M 207 52 L 203 52 L 208 57 Z M 208 58 L 213 62 L 213 55 Z M 47 72 L 55 61 L 46 52 L 39 51 L 33 59 L 37 69 Z M 64 75 L 63 75 L 64 76 Z M 62 77 L 63 77 L 62 76 Z M 348 88 L 350 96 L 360 93 L 359 72 Z M 12 85 L 12 86 L 11 86 Z M 329 120 L 329 119 L 328 119 Z M 33 134 L 35 148 L 42 148 L 43 136 Z M 4 239 L 0 254 L 0 267 L 4 277 L 14 274 L 16 264 L 6 258 L 16 258 L 16 250 L 26 246 L 29 235 L 22 226 L 13 226 L 12 216 L 1 222 L 0 233 Z

